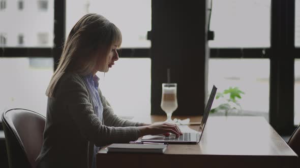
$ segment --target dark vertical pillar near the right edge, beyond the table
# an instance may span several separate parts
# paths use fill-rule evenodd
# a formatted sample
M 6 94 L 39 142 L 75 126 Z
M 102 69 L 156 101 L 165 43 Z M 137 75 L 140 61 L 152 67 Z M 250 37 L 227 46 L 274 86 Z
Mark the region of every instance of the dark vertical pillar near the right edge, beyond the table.
M 270 123 L 280 134 L 294 125 L 294 1 L 273 0 L 271 19 Z

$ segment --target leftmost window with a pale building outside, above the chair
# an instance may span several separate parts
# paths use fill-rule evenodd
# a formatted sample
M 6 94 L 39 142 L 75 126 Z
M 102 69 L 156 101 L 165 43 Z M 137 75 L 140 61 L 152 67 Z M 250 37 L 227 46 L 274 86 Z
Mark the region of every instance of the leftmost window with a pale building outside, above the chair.
M 0 2 L 5 7 L 0 11 L 0 113 L 26 108 L 45 116 L 53 74 L 54 1 Z

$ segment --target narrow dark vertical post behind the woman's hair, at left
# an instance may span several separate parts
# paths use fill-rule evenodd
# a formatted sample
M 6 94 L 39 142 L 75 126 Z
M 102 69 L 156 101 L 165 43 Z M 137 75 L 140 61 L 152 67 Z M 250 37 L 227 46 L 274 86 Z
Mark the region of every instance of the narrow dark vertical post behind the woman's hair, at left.
M 63 53 L 66 31 L 66 0 L 54 0 L 54 70 Z

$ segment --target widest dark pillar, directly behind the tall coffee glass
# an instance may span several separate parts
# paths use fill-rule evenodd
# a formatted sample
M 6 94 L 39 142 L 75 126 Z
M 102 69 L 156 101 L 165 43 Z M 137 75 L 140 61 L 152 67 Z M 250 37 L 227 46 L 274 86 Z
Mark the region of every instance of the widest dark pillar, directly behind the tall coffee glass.
M 178 108 L 174 115 L 203 113 L 207 95 L 206 1 L 152 1 L 151 114 L 161 107 L 162 83 L 177 83 Z

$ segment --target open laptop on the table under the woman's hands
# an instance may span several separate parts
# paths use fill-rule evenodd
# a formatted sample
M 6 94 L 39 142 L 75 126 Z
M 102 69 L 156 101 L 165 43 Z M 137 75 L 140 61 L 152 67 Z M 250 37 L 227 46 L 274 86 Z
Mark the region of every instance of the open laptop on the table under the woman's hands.
M 213 90 L 211 92 L 211 95 L 209 95 L 208 102 L 206 104 L 202 120 L 200 122 L 199 132 L 197 133 L 190 133 L 190 132 L 183 132 L 183 135 L 179 136 L 178 138 L 171 134 L 168 137 L 165 137 L 163 135 L 156 135 L 156 136 L 143 136 L 141 139 L 141 142 L 154 142 L 154 143 L 164 143 L 164 144 L 197 144 L 200 142 L 201 137 L 203 135 L 203 131 L 205 128 L 205 124 L 208 118 L 209 111 L 211 111 L 211 107 L 213 104 L 213 101 L 215 99 L 215 95 L 217 93 L 217 88 L 213 86 Z

